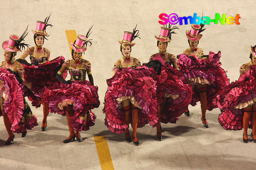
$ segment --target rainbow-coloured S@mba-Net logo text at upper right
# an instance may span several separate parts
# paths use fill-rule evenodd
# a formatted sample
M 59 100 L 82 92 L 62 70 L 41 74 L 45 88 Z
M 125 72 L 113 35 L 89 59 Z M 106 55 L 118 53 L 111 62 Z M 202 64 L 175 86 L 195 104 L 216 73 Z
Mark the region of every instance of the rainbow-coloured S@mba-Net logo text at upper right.
M 225 23 L 227 23 L 228 25 L 232 25 L 232 24 L 237 24 L 240 25 L 239 19 L 241 17 L 239 16 L 239 14 L 236 14 L 235 17 L 233 16 L 228 16 L 226 17 L 226 14 L 222 14 L 222 17 L 219 13 L 215 13 L 215 18 L 211 19 L 208 16 L 203 16 L 202 18 L 197 16 L 197 13 L 194 13 L 193 17 L 192 16 L 184 16 L 184 17 L 178 17 L 178 15 L 176 13 L 171 13 L 170 15 L 166 14 L 166 13 L 161 13 L 159 15 L 159 19 L 161 19 L 161 21 L 158 21 L 159 24 L 161 25 L 165 25 L 167 23 L 170 23 L 172 25 L 175 25 L 177 23 L 179 23 L 180 25 L 183 25 L 183 23 L 185 25 L 188 24 L 188 20 L 190 24 L 207 24 L 210 25 L 210 23 L 214 23 L 214 24 L 218 24 L 221 23 L 222 25 L 225 25 Z

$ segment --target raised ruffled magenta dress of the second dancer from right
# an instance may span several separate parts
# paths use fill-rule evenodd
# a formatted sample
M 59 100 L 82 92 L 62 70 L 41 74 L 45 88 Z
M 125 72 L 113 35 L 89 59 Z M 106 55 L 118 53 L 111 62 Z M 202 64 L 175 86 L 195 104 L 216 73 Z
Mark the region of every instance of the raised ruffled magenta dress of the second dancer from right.
M 217 108 L 217 104 L 213 99 L 217 95 L 224 94 L 225 87 L 229 85 L 225 70 L 221 68 L 221 52 L 217 54 L 214 52 L 209 53 L 206 57 L 198 57 L 195 55 L 181 54 L 177 56 L 178 67 L 184 73 L 187 82 L 191 85 L 207 84 L 207 110 L 211 111 Z M 200 101 L 199 91 L 197 88 L 193 90 L 193 98 L 191 105 L 195 106 L 196 102 Z

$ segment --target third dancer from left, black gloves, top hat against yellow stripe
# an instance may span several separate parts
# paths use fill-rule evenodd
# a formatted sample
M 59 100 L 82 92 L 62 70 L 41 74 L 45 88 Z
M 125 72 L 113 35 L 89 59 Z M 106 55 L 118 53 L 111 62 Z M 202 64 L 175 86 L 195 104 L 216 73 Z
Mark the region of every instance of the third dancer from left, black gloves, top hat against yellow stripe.
M 49 103 L 49 111 L 67 115 L 69 137 L 63 143 L 71 140 L 82 142 L 81 130 L 89 130 L 94 125 L 96 115 L 91 111 L 99 107 L 98 87 L 94 86 L 93 75 L 91 74 L 91 63 L 82 59 L 82 53 L 87 50 L 87 45 L 91 45 L 88 39 L 92 26 L 86 36 L 78 35 L 72 47 L 72 59 L 67 60 L 56 74 L 60 81 L 53 83 L 50 89 L 46 89 L 42 95 L 42 100 Z M 63 73 L 68 70 L 70 80 L 63 79 Z M 86 73 L 89 81 L 86 80 Z M 76 132 L 74 131 L 76 130 Z

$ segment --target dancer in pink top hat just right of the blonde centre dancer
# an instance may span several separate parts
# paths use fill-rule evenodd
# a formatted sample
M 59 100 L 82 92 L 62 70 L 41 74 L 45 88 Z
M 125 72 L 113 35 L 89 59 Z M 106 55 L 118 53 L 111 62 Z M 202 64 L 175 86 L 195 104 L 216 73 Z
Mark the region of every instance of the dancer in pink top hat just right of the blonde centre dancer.
M 171 28 L 170 24 L 169 27 L 167 25 L 161 27 L 159 37 L 155 36 L 159 52 L 151 55 L 149 59 L 150 61 L 159 60 L 162 63 L 161 74 L 153 77 L 157 81 L 158 141 L 162 141 L 160 123 L 176 123 L 178 116 L 184 113 L 192 100 L 192 87 L 189 84 L 184 84 L 186 80 L 184 75 L 178 72 L 177 58 L 166 50 L 168 43 L 172 40 L 172 33 L 176 33 L 173 31 L 174 29 L 178 29 L 178 27 Z M 152 67 L 154 64 L 148 63 L 147 66 Z

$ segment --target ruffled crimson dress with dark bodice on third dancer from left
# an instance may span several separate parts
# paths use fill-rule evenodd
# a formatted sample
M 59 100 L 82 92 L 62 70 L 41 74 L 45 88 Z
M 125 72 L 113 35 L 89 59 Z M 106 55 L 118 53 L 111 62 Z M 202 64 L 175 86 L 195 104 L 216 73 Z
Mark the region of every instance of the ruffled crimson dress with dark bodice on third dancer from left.
M 84 60 L 85 61 L 85 60 Z M 73 106 L 74 116 L 70 118 L 70 125 L 73 129 L 89 130 L 95 123 L 96 115 L 91 111 L 99 107 L 98 87 L 93 86 L 86 80 L 86 68 L 91 68 L 91 64 L 82 63 L 80 68 L 72 68 L 72 60 L 68 60 L 64 65 L 69 64 L 69 74 L 72 84 L 54 82 L 51 87 L 45 89 L 41 99 L 49 106 L 49 112 L 66 115 L 64 107 Z M 84 68 L 86 65 L 86 68 Z

